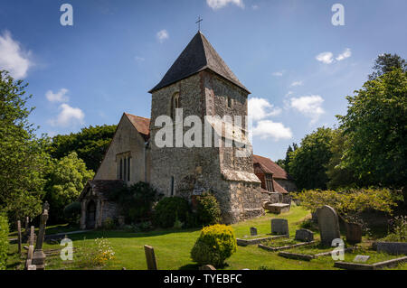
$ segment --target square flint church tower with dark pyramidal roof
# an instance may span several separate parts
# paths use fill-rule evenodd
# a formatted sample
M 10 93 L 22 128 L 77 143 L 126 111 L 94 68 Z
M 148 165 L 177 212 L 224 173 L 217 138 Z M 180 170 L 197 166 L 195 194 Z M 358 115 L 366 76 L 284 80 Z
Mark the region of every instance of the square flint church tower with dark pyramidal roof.
M 156 135 L 161 129 L 156 126 L 157 117 L 175 119 L 177 108 L 182 109 L 183 119 L 198 116 L 203 124 L 205 116 L 241 116 L 243 121 L 247 117 L 250 91 L 241 84 L 204 34 L 196 33 L 149 93 L 152 94 L 151 184 L 167 197 L 179 196 L 187 200 L 204 190 L 211 190 L 220 203 L 223 222 L 227 224 L 263 215 L 262 197 L 268 197 L 268 194 L 262 193 L 260 180 L 254 174 L 252 153 L 245 157 L 236 156 L 241 148 L 226 144 L 235 135 L 245 138 L 247 132 L 244 129 L 228 131 L 224 126 L 219 128 L 211 123 L 211 147 L 204 147 L 204 125 L 202 146 L 178 144 L 176 147 L 175 139 L 172 147 L 156 144 Z M 177 129 L 184 135 L 190 128 L 174 123 L 174 138 Z M 215 135 L 221 139 L 220 147 L 213 144 Z M 245 143 L 251 148 L 250 143 Z

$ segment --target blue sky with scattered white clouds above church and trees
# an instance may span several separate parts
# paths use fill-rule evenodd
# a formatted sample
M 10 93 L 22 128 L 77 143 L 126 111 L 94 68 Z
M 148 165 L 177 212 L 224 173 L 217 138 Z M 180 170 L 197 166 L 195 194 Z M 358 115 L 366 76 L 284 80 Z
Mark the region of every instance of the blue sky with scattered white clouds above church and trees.
M 60 7 L 73 7 L 62 26 Z M 334 26 L 332 5 L 345 7 Z M 197 32 L 251 90 L 254 153 L 277 160 L 336 125 L 383 52 L 407 57 L 405 0 L 2 0 L 0 69 L 30 83 L 49 135 L 150 116 L 147 93 Z M 161 36 L 161 38 L 159 37 Z

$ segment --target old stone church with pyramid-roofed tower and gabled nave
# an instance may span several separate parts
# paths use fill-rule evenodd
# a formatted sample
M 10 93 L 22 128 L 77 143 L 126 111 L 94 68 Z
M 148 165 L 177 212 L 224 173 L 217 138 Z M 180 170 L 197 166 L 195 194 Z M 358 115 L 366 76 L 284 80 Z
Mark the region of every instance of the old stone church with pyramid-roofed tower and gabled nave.
M 242 148 L 225 145 L 235 132 L 246 135 L 243 128 L 225 133 L 225 129 L 212 126 L 211 133 L 218 135 L 222 142 L 219 147 L 160 148 L 155 142 L 159 129 L 155 126 L 156 118 L 163 115 L 174 118 L 177 108 L 183 109 L 184 118 L 199 116 L 203 123 L 204 116 L 245 118 L 248 114 L 250 91 L 203 33 L 194 35 L 149 93 L 151 118 L 123 114 L 98 172 L 81 192 L 80 227 L 98 228 L 105 218 L 117 218 L 118 207 L 109 202 L 107 193 L 123 182 L 137 181 L 150 183 L 166 197 L 179 196 L 186 200 L 211 190 L 220 203 L 222 221 L 226 224 L 263 215 L 262 204 L 268 199 L 269 191 L 261 188 L 261 181 L 254 173 L 252 153 L 236 157 Z M 184 133 L 189 129 L 177 124 L 172 128 L 174 132 L 182 129 Z M 245 144 L 251 148 L 247 140 Z

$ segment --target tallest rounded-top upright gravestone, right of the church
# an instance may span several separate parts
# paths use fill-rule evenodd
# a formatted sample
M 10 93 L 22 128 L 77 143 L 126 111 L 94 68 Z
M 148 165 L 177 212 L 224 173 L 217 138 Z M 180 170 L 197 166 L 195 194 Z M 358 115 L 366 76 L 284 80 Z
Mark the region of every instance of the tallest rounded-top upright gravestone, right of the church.
M 341 237 L 336 211 L 330 206 L 323 206 L 317 209 L 317 218 L 321 244 L 331 246 L 334 239 Z

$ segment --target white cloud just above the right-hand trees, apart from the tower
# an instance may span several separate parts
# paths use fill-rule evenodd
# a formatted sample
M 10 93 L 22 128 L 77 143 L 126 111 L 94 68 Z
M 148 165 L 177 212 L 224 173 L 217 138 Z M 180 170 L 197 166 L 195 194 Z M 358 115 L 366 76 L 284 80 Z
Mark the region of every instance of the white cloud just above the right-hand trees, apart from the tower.
M 300 98 L 291 98 L 290 107 L 298 110 L 301 114 L 311 118 L 311 123 L 314 124 L 319 119 L 319 116 L 325 113 L 322 108 L 324 99 L 319 95 L 303 96 Z

